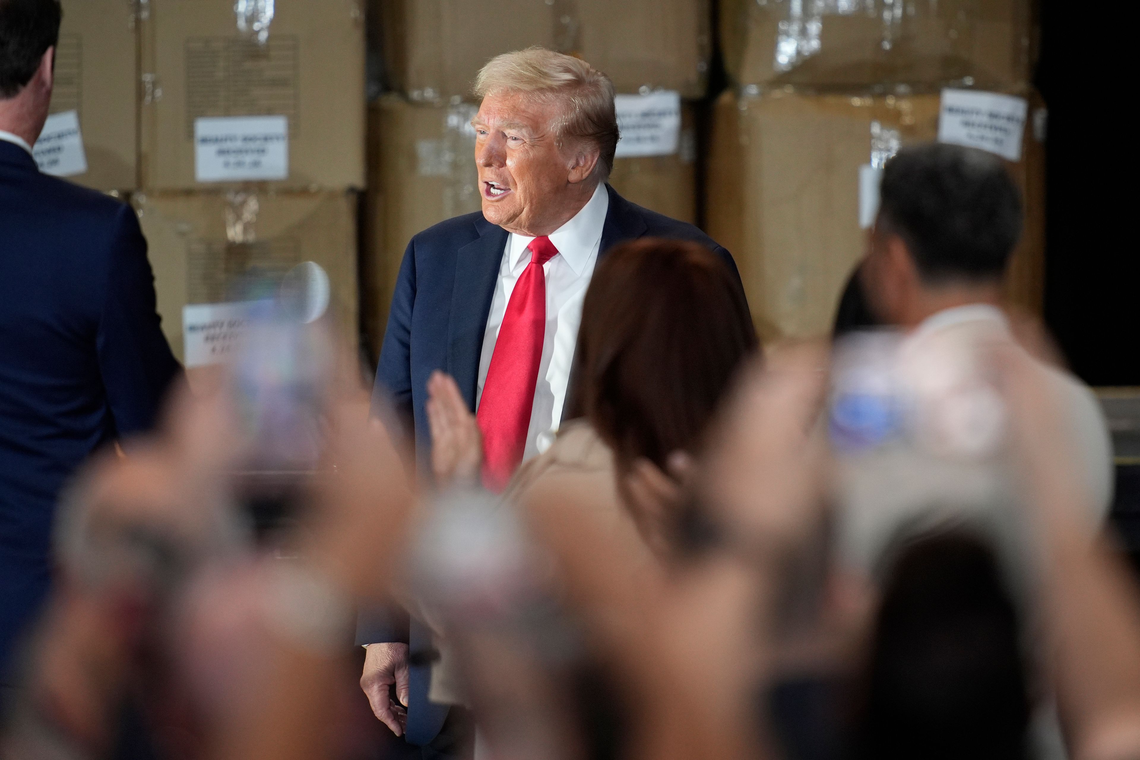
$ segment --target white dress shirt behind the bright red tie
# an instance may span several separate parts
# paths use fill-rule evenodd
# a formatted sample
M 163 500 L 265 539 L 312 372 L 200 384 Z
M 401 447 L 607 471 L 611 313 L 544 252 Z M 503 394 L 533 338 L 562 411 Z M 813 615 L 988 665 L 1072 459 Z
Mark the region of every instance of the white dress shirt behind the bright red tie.
M 605 183 L 600 182 L 594 195 L 573 219 L 551 232 L 551 243 L 559 255 L 543 265 L 546 275 L 546 335 L 543 338 L 543 359 L 538 365 L 538 383 L 535 386 L 535 404 L 530 411 L 530 428 L 527 431 L 527 448 L 522 458 L 527 460 L 545 451 L 554 440 L 562 408 L 565 406 L 567 386 L 570 383 L 570 366 L 578 343 L 578 325 L 581 322 L 581 303 L 586 297 L 589 278 L 594 275 L 598 248 L 602 245 L 602 228 L 610 210 L 610 195 Z M 511 234 L 503 251 L 495 297 L 487 317 L 483 334 L 483 351 L 479 358 L 479 389 L 475 407 L 483 397 L 487 370 L 495 353 L 499 327 L 506 316 L 514 284 L 530 264 L 527 246 L 532 237 Z

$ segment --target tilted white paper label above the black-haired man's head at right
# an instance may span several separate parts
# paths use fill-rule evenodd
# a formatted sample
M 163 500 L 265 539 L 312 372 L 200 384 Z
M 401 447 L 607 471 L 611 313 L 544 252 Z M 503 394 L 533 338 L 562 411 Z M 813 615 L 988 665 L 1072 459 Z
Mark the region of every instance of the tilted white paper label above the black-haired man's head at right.
M 943 90 L 938 141 L 1020 161 L 1027 113 L 1025 98 L 976 90 Z

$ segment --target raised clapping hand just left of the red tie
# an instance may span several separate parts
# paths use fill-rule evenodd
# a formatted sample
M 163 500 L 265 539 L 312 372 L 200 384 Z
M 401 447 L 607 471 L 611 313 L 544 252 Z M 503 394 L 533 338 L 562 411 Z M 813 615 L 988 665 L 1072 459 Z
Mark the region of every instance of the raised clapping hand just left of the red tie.
M 431 465 L 441 487 L 477 483 L 483 465 L 483 436 L 475 416 L 450 375 L 437 371 L 427 381 Z

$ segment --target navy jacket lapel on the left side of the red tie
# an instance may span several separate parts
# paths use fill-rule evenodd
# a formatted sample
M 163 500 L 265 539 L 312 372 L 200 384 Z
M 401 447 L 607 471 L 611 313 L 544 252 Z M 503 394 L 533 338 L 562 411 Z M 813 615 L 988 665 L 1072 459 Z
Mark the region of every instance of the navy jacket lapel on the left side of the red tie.
M 507 231 L 486 219 L 475 222 L 479 238 L 459 248 L 455 261 L 451 319 L 448 324 L 447 371 L 459 385 L 467 408 L 475 408 L 479 357 L 487 316 L 495 296 Z

